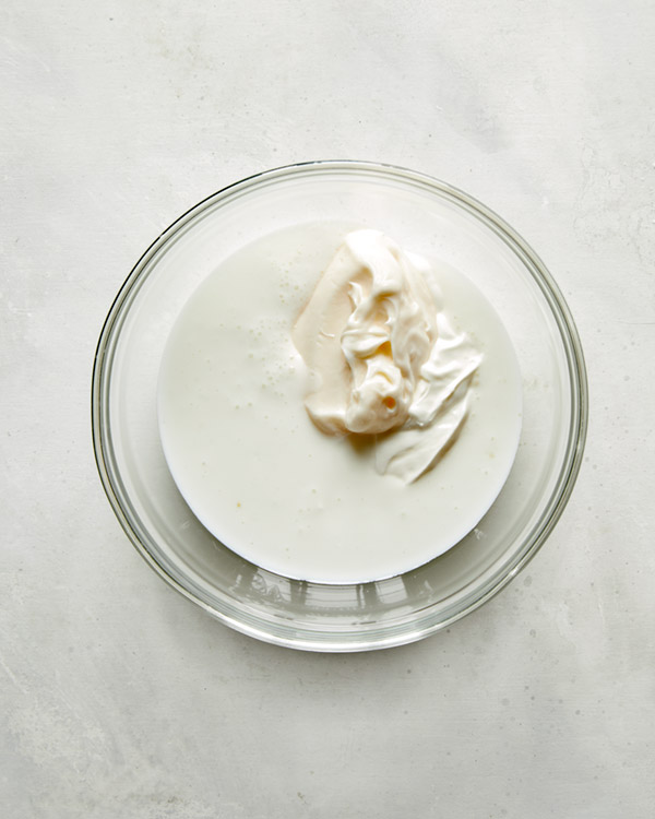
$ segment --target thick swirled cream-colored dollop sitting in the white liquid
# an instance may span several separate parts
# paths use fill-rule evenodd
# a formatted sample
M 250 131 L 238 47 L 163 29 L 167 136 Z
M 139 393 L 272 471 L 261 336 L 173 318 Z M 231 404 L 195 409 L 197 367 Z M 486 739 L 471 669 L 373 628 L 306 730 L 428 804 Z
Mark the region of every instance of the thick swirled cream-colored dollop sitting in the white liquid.
M 430 264 L 379 230 L 349 233 L 293 329 L 326 435 L 369 436 L 376 466 L 409 484 L 465 424 L 481 353 L 446 316 Z

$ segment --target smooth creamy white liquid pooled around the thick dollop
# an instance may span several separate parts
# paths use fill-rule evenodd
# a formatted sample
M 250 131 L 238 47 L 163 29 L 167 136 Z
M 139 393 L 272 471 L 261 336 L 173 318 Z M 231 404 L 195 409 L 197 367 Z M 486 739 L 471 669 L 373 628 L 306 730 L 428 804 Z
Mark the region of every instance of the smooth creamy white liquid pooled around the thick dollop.
M 453 327 L 483 354 L 454 444 L 405 485 L 377 472 L 366 440 L 312 424 L 291 328 L 357 227 L 295 226 L 224 261 L 182 309 L 159 377 L 164 452 L 199 520 L 252 562 L 325 583 L 398 574 L 457 543 L 502 488 L 521 429 L 504 328 L 468 280 L 436 260 Z

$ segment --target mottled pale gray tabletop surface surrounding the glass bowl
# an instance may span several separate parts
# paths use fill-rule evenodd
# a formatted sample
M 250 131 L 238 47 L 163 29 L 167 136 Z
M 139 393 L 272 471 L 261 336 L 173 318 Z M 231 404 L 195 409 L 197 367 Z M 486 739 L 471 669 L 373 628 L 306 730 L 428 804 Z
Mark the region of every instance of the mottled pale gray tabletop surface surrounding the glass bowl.
M 0 804 L 66 819 L 652 817 L 651 0 L 5 0 L 0 10 Z M 90 379 L 134 261 L 224 185 L 312 158 L 461 187 L 585 346 L 582 473 L 448 632 L 352 656 L 211 620 L 143 563 Z

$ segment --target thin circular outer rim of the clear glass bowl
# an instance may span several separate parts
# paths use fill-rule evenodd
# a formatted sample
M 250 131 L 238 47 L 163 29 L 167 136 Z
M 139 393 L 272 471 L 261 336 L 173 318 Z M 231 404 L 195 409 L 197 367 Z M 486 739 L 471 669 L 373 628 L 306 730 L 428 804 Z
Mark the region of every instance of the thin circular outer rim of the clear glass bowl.
M 202 600 L 192 589 L 189 589 L 179 582 L 155 559 L 134 531 L 134 527 L 121 503 L 115 484 L 115 476 L 117 476 L 117 473 L 109 464 L 109 453 L 106 451 L 103 440 L 103 419 L 105 412 L 102 397 L 107 375 L 105 365 L 107 363 L 108 349 L 110 342 L 114 339 L 117 321 L 121 318 L 123 308 L 126 308 L 126 304 L 130 296 L 133 295 L 133 290 L 140 283 L 140 277 L 151 259 L 153 259 L 153 257 L 176 234 L 178 234 L 181 228 L 192 219 L 199 217 L 209 206 L 214 205 L 216 202 L 229 200 L 235 197 L 235 194 L 240 194 L 252 188 L 261 187 L 262 183 L 267 185 L 275 181 L 286 180 L 295 176 L 311 174 L 312 171 L 349 171 L 364 173 L 369 176 L 393 177 L 396 180 L 400 179 L 405 182 L 412 182 L 415 186 L 431 191 L 432 193 L 445 195 L 446 199 L 456 202 L 465 211 L 473 213 L 473 215 L 478 218 L 481 217 L 481 222 L 488 228 L 492 229 L 497 236 L 520 257 L 526 270 L 532 273 L 533 280 L 539 286 L 539 289 L 546 298 L 551 313 L 556 319 L 561 341 L 564 345 L 567 361 L 569 364 L 568 376 L 571 389 L 571 425 L 565 452 L 562 458 L 564 468 L 561 468 L 557 485 L 551 494 L 550 500 L 555 502 L 551 502 L 551 505 L 545 510 L 547 514 L 543 513 L 540 515 L 537 526 L 538 532 L 536 536 L 532 538 L 529 545 L 520 551 L 515 556 L 515 559 L 510 561 L 509 569 L 503 565 L 503 567 L 501 567 L 501 569 L 487 581 L 487 587 L 481 594 L 476 594 L 473 600 L 466 600 L 465 603 L 450 616 L 441 618 L 438 621 L 425 624 L 424 620 L 429 619 L 429 617 L 425 615 L 422 620 L 418 620 L 414 624 L 415 628 L 412 630 L 405 629 L 401 632 L 394 632 L 392 629 L 381 627 L 378 630 L 379 633 L 372 630 L 361 632 L 361 638 L 359 640 L 344 640 L 344 636 L 340 633 L 332 633 L 331 639 L 325 639 L 325 637 L 319 638 L 319 632 L 308 632 L 308 637 L 299 633 L 297 629 L 293 629 L 288 625 L 286 626 L 288 633 L 273 633 L 270 629 L 264 628 L 263 619 L 261 620 L 261 625 L 254 625 L 249 621 L 250 618 L 239 618 L 225 610 L 219 610 Z M 535 275 L 535 271 L 537 275 Z M 127 306 L 127 309 L 129 309 L 129 305 Z M 95 462 L 100 483 L 121 527 L 146 563 L 171 587 L 225 625 L 265 642 L 286 648 L 302 649 L 306 651 L 369 651 L 415 642 L 449 627 L 456 620 L 487 603 L 511 580 L 513 580 L 516 574 L 525 568 L 525 566 L 527 566 L 549 537 L 561 518 L 573 491 L 582 465 L 588 427 L 588 384 L 584 353 L 577 329 L 561 290 L 538 254 L 532 249 L 525 239 L 523 239 L 523 237 L 495 211 L 461 189 L 436 177 L 409 168 L 386 163 L 358 159 L 315 159 L 271 168 L 269 170 L 250 175 L 221 188 L 184 211 L 151 242 L 138 259 L 136 263 L 133 265 L 129 275 L 119 288 L 100 330 L 93 361 L 91 427 Z M 469 597 L 471 596 L 472 595 L 469 595 Z

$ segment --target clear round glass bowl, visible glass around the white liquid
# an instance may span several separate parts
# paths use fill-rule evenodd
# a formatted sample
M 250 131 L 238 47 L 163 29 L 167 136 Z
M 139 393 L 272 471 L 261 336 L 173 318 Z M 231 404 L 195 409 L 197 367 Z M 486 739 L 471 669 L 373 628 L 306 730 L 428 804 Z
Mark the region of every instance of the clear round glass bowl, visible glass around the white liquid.
M 519 356 L 523 428 L 501 494 L 456 546 L 398 577 L 326 585 L 254 566 L 199 523 L 164 459 L 156 382 L 181 308 L 222 260 L 283 227 L 364 217 L 415 252 L 429 245 L 430 256 L 463 272 L 487 296 Z M 261 640 L 361 651 L 408 643 L 449 626 L 499 592 L 534 556 L 577 476 L 587 424 L 586 375 L 557 285 L 526 242 L 489 209 L 412 170 L 312 162 L 218 191 L 145 251 L 100 333 L 92 424 L 98 471 L 116 515 L 174 589 Z

